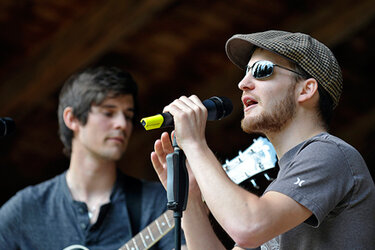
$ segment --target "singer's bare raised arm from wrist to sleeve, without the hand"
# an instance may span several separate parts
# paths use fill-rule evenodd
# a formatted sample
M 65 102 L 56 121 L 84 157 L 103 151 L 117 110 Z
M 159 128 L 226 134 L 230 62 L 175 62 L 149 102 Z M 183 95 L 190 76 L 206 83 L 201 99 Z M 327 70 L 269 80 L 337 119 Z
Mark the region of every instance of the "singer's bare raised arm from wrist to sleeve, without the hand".
M 204 144 L 191 144 L 185 154 L 208 208 L 240 246 L 257 247 L 311 216 L 307 208 L 282 193 L 271 191 L 258 197 L 233 183 Z

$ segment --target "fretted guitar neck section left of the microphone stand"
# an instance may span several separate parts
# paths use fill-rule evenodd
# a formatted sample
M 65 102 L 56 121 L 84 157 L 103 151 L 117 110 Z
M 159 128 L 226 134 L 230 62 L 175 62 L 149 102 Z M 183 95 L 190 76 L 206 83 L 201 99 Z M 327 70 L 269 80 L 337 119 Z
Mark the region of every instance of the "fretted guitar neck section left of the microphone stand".
M 173 211 L 167 210 L 119 250 L 149 249 L 174 228 Z

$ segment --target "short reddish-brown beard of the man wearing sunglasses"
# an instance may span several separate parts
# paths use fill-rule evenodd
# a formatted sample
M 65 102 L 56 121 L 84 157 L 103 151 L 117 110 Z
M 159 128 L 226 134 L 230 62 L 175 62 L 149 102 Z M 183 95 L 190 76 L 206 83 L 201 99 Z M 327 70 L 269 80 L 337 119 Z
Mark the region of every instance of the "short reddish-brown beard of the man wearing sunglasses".
M 275 133 L 280 132 L 294 117 L 296 103 L 294 101 L 295 85 L 292 84 L 281 101 L 274 102 L 270 111 L 265 111 L 254 118 L 244 117 L 241 128 L 246 133 Z

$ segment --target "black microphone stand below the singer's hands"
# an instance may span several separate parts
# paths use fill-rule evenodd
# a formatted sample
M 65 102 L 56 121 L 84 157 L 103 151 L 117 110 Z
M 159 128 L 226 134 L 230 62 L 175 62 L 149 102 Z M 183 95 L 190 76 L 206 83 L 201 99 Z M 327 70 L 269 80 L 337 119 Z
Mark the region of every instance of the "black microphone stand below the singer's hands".
M 186 156 L 179 148 L 176 137 L 173 136 L 172 142 L 174 152 L 167 155 L 167 207 L 173 210 L 175 219 L 175 249 L 181 249 L 181 218 L 182 211 L 186 209 L 189 176 L 186 169 Z

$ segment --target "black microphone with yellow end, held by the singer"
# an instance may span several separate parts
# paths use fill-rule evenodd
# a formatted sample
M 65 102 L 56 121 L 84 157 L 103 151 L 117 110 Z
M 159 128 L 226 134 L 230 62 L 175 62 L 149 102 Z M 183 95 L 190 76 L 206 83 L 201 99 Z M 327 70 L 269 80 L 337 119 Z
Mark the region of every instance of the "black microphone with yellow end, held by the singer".
M 207 108 L 208 121 L 220 120 L 228 116 L 233 110 L 231 100 L 224 96 L 213 96 L 209 99 L 204 100 L 202 103 Z M 151 130 L 157 128 L 172 127 L 174 125 L 174 122 L 173 116 L 169 112 L 166 112 L 143 118 L 141 120 L 141 124 L 146 130 Z

